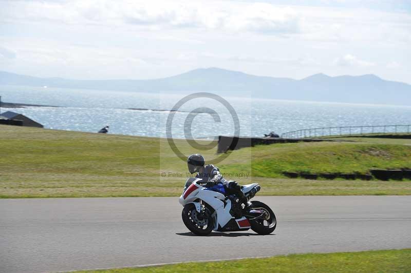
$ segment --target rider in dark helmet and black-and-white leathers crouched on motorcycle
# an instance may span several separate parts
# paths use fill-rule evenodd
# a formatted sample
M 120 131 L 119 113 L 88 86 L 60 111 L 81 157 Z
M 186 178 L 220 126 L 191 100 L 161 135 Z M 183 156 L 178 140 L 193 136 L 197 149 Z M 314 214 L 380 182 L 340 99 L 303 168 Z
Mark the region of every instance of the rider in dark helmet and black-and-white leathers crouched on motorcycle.
M 246 208 L 250 208 L 252 206 L 252 203 L 248 201 L 247 197 L 245 197 L 244 192 L 242 192 L 241 187 L 237 182 L 223 179 L 220 170 L 216 166 L 212 164 L 204 166 L 204 162 L 204 157 L 201 154 L 195 153 L 190 155 L 187 159 L 187 165 L 190 173 L 198 172 L 196 178 L 201 178 L 202 183 L 207 183 L 207 188 L 210 188 L 218 183 L 224 185 L 227 192 L 235 194 L 241 202 L 244 203 Z

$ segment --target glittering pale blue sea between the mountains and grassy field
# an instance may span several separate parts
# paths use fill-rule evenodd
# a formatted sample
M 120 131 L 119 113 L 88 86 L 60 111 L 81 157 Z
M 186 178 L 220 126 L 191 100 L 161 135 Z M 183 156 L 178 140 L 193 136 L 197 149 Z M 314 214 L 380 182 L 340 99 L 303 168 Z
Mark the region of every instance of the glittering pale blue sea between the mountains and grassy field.
M 212 139 L 235 133 L 263 136 L 318 127 L 411 124 L 411 106 L 257 99 L 252 92 L 247 97 L 222 98 L 195 93 L 186 97 L 0 85 L 3 102 L 59 106 L 3 108 L 3 112 L 22 113 L 45 128 L 68 131 L 97 132 L 109 126 L 113 134 Z M 180 100 L 184 101 L 178 111 L 170 111 Z

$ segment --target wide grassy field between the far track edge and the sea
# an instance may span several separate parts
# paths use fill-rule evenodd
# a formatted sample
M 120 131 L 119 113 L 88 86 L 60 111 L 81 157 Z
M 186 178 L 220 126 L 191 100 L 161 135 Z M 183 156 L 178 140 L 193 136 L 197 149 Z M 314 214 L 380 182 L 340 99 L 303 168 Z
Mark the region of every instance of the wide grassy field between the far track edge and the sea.
M 216 148 L 200 151 L 184 140 L 176 143 L 184 154 L 218 156 Z M 235 150 L 217 165 L 223 173 L 248 174 L 232 179 L 260 183 L 261 195 L 411 194 L 411 181 L 311 181 L 282 174 L 411 168 L 410 158 L 406 145 L 293 143 Z M 179 196 L 186 179 L 185 162 L 165 139 L 5 125 L 0 125 L 0 168 L 0 198 Z

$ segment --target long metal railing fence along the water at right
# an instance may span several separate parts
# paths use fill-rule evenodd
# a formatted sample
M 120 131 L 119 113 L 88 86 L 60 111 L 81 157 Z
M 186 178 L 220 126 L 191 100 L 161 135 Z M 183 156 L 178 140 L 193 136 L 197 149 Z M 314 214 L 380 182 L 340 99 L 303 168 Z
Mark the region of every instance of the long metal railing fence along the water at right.
M 317 136 L 327 135 L 353 135 L 369 133 L 409 133 L 411 125 L 378 125 L 378 126 L 340 126 L 340 127 L 323 127 L 301 129 L 286 132 L 281 135 L 287 139 L 315 138 Z

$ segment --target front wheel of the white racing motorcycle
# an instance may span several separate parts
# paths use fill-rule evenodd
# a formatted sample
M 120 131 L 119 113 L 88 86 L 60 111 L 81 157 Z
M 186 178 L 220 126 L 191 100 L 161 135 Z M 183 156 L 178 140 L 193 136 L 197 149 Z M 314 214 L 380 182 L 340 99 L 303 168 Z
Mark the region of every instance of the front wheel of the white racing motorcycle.
M 187 204 L 181 212 L 184 225 L 195 235 L 206 236 L 213 231 L 214 221 L 210 211 L 198 212 L 194 204 Z

